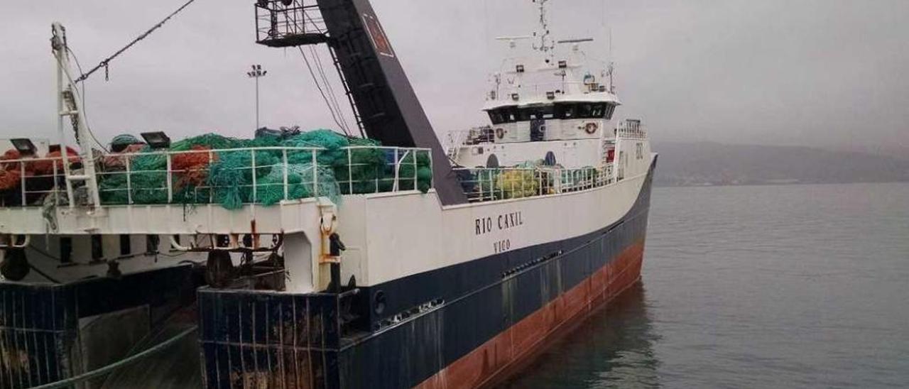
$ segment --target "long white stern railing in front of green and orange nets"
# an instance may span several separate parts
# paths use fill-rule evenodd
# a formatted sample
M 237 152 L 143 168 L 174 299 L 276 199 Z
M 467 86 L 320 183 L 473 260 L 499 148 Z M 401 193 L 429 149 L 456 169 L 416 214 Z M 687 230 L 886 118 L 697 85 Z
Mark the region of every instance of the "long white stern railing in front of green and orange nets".
M 65 163 L 62 156 L 0 161 L 0 184 L 15 180 L 0 187 L 0 206 L 85 204 L 88 196 L 81 182 L 74 182 L 68 193 Z M 81 174 L 82 161 L 70 155 L 68 163 L 70 175 Z M 248 147 L 111 153 L 95 155 L 95 166 L 102 205 L 275 204 L 341 194 L 425 191 L 433 185 L 432 153 L 420 148 Z

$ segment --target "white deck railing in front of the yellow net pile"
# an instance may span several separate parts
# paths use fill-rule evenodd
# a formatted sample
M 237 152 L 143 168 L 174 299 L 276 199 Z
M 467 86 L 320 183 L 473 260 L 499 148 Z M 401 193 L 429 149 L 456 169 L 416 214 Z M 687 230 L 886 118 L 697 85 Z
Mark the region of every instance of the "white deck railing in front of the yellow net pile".
M 458 168 L 464 194 L 471 202 L 583 191 L 614 183 L 613 165 L 558 167 Z

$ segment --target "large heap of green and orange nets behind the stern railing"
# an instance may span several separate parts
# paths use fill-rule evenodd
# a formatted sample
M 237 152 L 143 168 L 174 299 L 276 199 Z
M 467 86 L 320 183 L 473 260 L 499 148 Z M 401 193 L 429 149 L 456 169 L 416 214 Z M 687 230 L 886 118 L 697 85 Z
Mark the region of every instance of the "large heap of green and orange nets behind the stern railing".
M 125 143 L 135 140 L 118 138 Z M 365 148 L 351 149 L 348 155 L 346 148 L 352 145 Z M 428 155 L 417 155 L 415 164 L 411 155 L 409 165 L 402 155 L 398 169 L 402 179 L 395 188 L 394 155 L 378 146 L 375 141 L 347 138 L 330 130 L 293 135 L 265 132 L 253 139 L 195 136 L 165 150 L 172 154 L 169 194 L 167 157 L 162 150 L 137 143 L 119 145 L 115 148 L 121 150 L 119 155 L 104 159 L 99 191 L 103 204 L 211 203 L 227 209 L 250 203 L 277 204 L 315 194 L 340 204 L 341 194 L 415 188 L 428 191 L 432 180 Z M 314 155 L 310 150 L 294 148 L 319 150 Z

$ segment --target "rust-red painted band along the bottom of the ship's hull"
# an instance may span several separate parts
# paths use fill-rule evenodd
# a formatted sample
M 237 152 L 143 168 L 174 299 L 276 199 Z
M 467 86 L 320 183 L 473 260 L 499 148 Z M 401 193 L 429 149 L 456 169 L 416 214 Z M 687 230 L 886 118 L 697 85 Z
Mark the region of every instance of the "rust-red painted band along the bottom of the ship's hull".
M 628 247 L 581 284 L 449 364 L 417 388 L 472 388 L 504 378 L 511 367 L 533 358 L 546 339 L 577 324 L 636 283 L 641 277 L 643 254 L 643 242 Z

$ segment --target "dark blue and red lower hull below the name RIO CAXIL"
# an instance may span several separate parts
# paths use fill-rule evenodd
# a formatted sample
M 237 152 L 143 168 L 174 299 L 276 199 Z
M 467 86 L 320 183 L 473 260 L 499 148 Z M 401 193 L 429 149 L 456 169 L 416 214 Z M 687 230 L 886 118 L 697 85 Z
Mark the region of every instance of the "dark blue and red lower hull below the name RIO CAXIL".
M 654 160 L 655 165 L 655 160 Z M 361 286 L 354 296 L 261 291 L 199 293 L 204 381 L 210 388 L 462 388 L 492 384 L 547 339 L 578 324 L 640 279 L 653 167 L 619 220 L 535 244 Z M 519 265 L 501 272 L 494 264 Z M 369 331 L 338 324 L 358 296 L 412 294 L 496 273 L 472 288 Z M 437 286 L 436 286 L 437 287 Z M 431 289 L 431 288 L 430 288 Z

